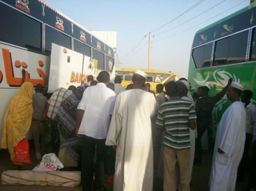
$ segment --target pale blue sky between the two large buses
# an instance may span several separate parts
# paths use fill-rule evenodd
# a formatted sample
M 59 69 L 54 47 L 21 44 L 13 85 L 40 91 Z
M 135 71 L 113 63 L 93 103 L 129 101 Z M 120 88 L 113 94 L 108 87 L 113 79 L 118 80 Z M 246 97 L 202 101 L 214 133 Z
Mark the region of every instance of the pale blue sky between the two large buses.
M 172 71 L 182 77 L 188 77 L 195 33 L 250 4 L 250 0 L 44 1 L 87 30 L 116 31 L 120 68 L 148 68 L 150 32 L 151 69 Z M 197 6 L 190 9 L 193 5 Z

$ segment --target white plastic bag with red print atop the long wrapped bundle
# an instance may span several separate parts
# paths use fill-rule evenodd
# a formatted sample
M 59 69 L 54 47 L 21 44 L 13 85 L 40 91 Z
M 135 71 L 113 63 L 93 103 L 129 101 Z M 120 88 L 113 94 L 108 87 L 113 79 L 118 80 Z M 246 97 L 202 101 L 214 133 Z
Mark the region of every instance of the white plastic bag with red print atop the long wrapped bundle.
M 63 168 L 63 164 L 54 153 L 43 156 L 41 162 L 32 171 L 57 171 Z

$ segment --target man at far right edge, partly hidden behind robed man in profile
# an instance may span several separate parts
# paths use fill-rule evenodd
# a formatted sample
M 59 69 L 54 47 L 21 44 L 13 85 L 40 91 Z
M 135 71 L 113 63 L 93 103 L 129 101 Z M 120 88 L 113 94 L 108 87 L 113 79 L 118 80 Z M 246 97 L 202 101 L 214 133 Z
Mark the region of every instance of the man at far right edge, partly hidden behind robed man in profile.
M 241 101 L 245 104 L 246 111 L 246 134 L 245 134 L 245 149 L 241 159 L 237 181 L 244 181 L 244 174 L 246 170 L 246 164 L 248 164 L 248 153 L 252 143 L 253 129 L 256 128 L 256 108 L 251 102 L 253 93 L 251 90 L 244 90 L 241 95 Z

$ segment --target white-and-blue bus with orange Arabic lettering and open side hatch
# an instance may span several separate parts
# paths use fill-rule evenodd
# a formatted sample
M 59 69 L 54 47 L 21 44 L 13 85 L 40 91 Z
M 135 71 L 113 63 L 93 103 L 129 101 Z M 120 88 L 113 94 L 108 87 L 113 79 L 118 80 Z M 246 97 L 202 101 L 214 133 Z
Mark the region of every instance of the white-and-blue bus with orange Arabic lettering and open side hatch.
M 0 137 L 22 69 L 25 82 L 49 85 L 53 92 L 113 68 L 113 48 L 63 13 L 39 0 L 0 0 Z

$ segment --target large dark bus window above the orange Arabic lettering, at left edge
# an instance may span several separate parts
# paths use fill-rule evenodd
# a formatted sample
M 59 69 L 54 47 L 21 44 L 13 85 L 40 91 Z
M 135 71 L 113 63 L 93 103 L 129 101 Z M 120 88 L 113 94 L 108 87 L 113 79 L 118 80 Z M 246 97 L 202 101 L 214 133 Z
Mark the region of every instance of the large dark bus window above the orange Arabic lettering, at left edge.
M 41 51 L 41 23 L 1 3 L 0 40 Z

